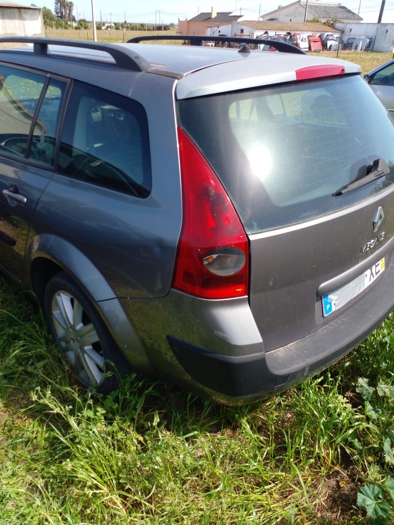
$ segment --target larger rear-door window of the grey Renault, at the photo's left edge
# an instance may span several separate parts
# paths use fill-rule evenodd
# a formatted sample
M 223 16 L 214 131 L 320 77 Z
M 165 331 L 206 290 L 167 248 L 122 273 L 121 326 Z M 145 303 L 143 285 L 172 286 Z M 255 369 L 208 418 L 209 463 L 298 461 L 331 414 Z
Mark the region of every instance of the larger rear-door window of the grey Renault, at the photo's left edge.
M 25 156 L 46 78 L 0 66 L 0 153 Z

